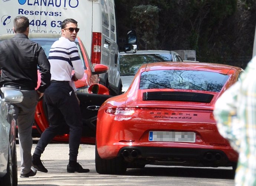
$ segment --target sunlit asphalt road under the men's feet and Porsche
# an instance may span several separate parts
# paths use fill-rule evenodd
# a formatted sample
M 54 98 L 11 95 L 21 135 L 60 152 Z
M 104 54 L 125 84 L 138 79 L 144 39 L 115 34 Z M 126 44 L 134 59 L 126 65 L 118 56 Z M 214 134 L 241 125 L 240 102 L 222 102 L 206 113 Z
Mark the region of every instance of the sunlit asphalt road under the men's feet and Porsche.
M 33 145 L 32 153 L 36 144 Z M 29 178 L 18 177 L 19 186 L 233 186 L 231 167 L 197 168 L 149 166 L 128 169 L 126 175 L 99 175 L 95 170 L 95 146 L 80 145 L 78 162 L 89 173 L 67 173 L 68 144 L 49 144 L 41 159 L 48 173 L 37 172 Z M 19 144 L 17 144 L 18 176 L 20 175 Z

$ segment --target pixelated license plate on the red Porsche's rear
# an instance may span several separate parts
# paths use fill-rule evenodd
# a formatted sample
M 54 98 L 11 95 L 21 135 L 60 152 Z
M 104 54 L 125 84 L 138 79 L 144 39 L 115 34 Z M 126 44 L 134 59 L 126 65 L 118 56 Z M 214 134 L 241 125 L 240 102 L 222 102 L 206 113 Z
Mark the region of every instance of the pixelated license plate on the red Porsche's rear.
M 168 132 L 168 131 L 150 131 L 149 141 L 153 142 L 196 142 L 196 133 L 194 132 Z

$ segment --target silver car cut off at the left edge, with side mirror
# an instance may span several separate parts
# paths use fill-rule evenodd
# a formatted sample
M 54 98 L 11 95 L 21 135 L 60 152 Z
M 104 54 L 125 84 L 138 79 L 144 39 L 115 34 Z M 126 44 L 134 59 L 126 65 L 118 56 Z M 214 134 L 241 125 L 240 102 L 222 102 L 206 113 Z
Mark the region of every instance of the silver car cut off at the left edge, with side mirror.
M 20 103 L 19 90 L 0 90 L 0 185 L 17 186 L 16 119 L 12 103 Z

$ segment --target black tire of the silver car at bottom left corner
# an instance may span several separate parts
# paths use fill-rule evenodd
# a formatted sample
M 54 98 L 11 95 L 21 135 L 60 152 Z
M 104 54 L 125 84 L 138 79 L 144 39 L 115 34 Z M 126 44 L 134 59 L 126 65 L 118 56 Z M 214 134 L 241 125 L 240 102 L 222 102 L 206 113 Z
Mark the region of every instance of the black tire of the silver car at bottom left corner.
M 0 179 L 0 185 L 3 186 L 17 186 L 17 157 L 16 157 L 16 147 L 15 151 L 10 152 L 7 162 L 7 173 L 4 177 Z

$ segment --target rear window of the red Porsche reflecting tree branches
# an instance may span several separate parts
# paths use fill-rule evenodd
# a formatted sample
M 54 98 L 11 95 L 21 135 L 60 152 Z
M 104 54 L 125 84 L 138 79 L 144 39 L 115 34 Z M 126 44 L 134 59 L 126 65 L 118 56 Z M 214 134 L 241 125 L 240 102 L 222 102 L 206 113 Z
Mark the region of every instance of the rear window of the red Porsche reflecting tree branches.
M 151 70 L 141 73 L 140 89 L 188 89 L 220 92 L 226 74 L 199 70 Z

